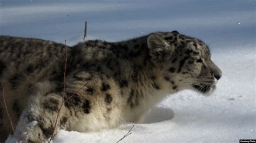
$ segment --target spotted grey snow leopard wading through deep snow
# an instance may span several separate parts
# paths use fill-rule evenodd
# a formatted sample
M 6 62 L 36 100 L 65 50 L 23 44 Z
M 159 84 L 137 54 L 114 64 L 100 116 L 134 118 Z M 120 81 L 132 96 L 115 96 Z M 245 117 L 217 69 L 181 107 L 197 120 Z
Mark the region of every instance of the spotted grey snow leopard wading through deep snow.
M 1 141 L 13 133 L 6 109 L 17 138 L 44 142 L 59 130 L 95 132 L 142 123 L 167 95 L 184 89 L 207 94 L 221 75 L 209 47 L 178 31 L 75 46 L 4 35 Z

